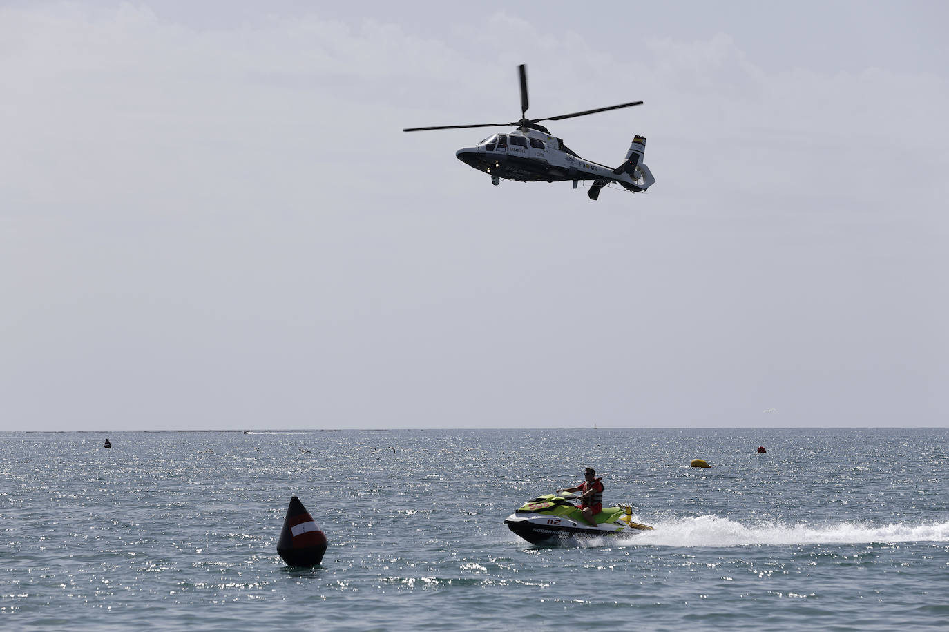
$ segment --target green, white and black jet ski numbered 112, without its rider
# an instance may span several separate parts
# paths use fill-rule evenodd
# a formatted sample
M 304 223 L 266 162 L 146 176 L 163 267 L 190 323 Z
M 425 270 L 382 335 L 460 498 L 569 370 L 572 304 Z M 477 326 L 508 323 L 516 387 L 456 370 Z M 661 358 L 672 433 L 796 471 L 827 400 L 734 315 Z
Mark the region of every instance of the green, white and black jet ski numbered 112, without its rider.
M 649 525 L 633 522 L 633 508 L 627 505 L 604 507 L 594 515 L 597 526 L 586 522 L 580 508 L 569 502 L 573 494 L 547 494 L 528 500 L 504 520 L 512 532 L 530 544 L 560 544 L 565 540 L 611 535 L 632 535 L 652 531 Z

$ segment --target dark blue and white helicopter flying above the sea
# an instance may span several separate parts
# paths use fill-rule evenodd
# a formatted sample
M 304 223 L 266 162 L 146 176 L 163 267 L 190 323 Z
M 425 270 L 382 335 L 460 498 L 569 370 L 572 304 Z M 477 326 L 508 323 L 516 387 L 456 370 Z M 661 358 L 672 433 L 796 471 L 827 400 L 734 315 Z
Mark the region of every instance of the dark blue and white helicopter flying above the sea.
M 624 107 L 642 105 L 642 101 L 621 103 L 608 107 L 562 114 L 558 117 L 528 118 L 528 74 L 527 65 L 517 66 L 521 82 L 521 118 L 512 123 L 476 123 L 473 125 L 436 125 L 430 127 L 408 127 L 402 132 L 425 132 L 428 130 L 456 130 L 472 127 L 508 127 L 515 129 L 508 134 L 490 135 L 474 147 L 462 147 L 455 155 L 458 160 L 479 172 L 491 175 L 493 185 L 499 185 L 501 179 L 520 182 L 567 182 L 573 181 L 573 188 L 581 180 L 592 180 L 587 195 L 591 200 L 600 197 L 600 190 L 611 182 L 623 189 L 642 192 L 649 189 L 656 178 L 642 162 L 645 154 L 646 139 L 634 135 L 623 164 L 613 169 L 592 160 L 582 158 L 564 144 L 562 138 L 551 135 L 549 129 L 538 125 L 542 120 L 563 120 L 564 118 L 585 117 L 588 114 L 618 110 Z

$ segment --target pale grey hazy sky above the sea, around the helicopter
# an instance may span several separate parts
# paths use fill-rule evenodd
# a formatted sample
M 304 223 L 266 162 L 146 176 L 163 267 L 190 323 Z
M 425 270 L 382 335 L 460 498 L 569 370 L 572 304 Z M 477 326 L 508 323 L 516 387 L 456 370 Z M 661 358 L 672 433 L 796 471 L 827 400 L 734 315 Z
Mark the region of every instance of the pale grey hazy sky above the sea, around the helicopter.
M 0 1 L 0 430 L 949 427 L 949 5 L 581 7 Z

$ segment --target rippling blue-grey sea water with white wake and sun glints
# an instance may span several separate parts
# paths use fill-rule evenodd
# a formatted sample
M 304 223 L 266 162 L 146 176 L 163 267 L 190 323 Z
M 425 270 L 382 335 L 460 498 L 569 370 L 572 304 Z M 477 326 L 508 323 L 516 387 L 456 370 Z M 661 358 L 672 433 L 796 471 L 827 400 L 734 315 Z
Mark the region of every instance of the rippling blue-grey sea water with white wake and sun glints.
M 0 438 L 4 630 L 949 626 L 947 429 Z M 656 530 L 539 548 L 503 524 L 587 466 Z M 314 569 L 275 551 L 294 495 Z

